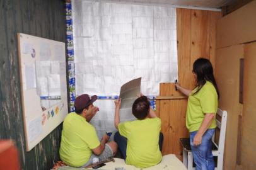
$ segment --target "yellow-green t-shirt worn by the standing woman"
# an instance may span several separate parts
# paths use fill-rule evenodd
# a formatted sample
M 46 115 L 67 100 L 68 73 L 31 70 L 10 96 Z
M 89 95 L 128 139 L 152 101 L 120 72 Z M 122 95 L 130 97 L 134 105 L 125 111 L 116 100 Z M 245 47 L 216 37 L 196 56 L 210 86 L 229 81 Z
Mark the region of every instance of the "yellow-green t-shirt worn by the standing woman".
M 196 90 L 197 88 L 189 95 L 187 103 L 186 125 L 189 132 L 199 130 L 205 114 L 217 113 L 218 109 L 218 94 L 211 82 L 206 81 L 201 90 L 194 94 Z M 216 118 L 212 120 L 209 128 L 216 128 Z

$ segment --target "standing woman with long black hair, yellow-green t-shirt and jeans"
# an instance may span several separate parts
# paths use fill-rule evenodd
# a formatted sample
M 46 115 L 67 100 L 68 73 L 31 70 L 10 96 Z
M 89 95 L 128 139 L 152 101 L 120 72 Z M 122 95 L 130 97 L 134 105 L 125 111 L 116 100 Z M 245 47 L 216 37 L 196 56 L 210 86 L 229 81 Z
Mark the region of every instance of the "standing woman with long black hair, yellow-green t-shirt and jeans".
M 212 135 L 216 128 L 218 109 L 218 87 L 209 60 L 195 60 L 192 70 L 195 88 L 191 91 L 175 83 L 176 88 L 189 96 L 187 103 L 186 125 L 190 132 L 190 145 L 195 161 L 195 169 L 214 169 L 212 156 Z

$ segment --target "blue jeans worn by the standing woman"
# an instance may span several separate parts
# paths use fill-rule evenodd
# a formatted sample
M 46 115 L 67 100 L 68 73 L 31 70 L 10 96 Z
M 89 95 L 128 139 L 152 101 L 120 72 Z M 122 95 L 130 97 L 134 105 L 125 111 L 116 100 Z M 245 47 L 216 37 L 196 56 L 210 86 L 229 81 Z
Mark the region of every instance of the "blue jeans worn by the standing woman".
M 215 129 L 208 129 L 202 135 L 202 143 L 195 146 L 193 144 L 197 131 L 190 132 L 190 145 L 195 161 L 195 170 L 214 170 L 214 160 L 212 156 L 212 135 Z

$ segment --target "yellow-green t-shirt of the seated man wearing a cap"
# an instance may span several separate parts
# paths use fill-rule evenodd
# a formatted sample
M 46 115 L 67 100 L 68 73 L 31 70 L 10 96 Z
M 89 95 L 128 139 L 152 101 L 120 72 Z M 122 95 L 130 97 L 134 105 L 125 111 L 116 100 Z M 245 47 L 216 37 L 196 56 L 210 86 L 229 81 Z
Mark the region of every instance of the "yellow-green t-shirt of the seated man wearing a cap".
M 81 167 L 90 159 L 92 149 L 100 145 L 96 130 L 86 119 L 69 113 L 63 123 L 61 135 L 61 160 L 67 165 Z

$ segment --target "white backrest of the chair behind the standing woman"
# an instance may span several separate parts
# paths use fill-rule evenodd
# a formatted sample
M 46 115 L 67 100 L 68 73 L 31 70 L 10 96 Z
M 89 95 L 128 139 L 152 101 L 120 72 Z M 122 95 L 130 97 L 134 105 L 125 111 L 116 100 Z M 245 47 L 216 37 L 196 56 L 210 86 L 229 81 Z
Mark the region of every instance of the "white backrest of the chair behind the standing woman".
M 219 116 L 221 116 L 221 122 L 219 122 L 219 120 L 216 119 L 216 124 L 217 124 L 217 128 L 219 128 L 220 132 L 219 132 L 219 144 L 217 145 L 214 142 L 214 137 L 212 137 L 212 142 L 218 146 L 218 150 L 220 152 L 224 151 L 224 143 L 225 143 L 225 136 L 226 136 L 226 120 L 227 120 L 227 111 L 225 110 L 220 110 L 218 108 L 217 114 Z

